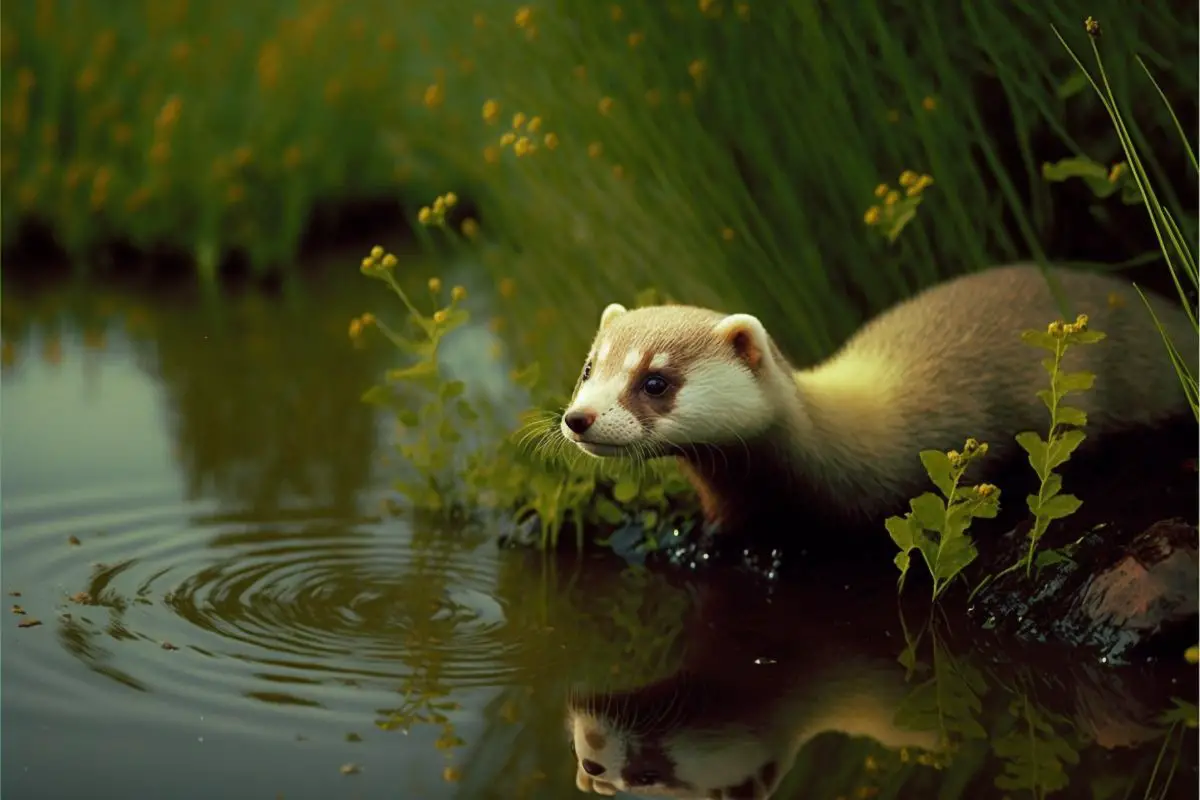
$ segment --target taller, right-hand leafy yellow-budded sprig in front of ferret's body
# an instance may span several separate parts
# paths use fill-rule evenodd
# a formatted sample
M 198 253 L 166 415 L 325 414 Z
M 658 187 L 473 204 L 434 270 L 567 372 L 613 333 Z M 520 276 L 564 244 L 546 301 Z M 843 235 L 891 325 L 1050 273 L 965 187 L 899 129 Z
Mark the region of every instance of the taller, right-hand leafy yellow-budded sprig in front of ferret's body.
M 1082 409 L 1062 403 L 1070 393 L 1087 391 L 1092 387 L 1096 375 L 1090 372 L 1062 372 L 1062 357 L 1067 348 L 1074 344 L 1094 344 L 1104 338 L 1100 331 L 1087 329 L 1087 317 L 1080 317 L 1070 324 L 1051 323 L 1045 331 L 1025 331 L 1021 341 L 1051 355 L 1043 359 L 1042 366 L 1050 375 L 1050 389 L 1038 392 L 1038 397 L 1050 411 L 1050 429 L 1043 439 L 1033 431 L 1016 434 L 1016 444 L 1028 453 L 1030 465 L 1040 481 L 1037 494 L 1026 498 L 1030 512 L 1033 513 L 1033 528 L 1030 529 L 1030 547 L 1015 567 L 1025 567 L 1028 576 L 1033 570 L 1033 553 L 1038 541 L 1045 535 L 1046 528 L 1055 519 L 1069 517 L 1079 510 L 1080 500 L 1073 494 L 1062 493 L 1062 476 L 1054 470 L 1067 463 L 1070 455 L 1084 441 L 1082 427 L 1087 425 L 1087 415 Z

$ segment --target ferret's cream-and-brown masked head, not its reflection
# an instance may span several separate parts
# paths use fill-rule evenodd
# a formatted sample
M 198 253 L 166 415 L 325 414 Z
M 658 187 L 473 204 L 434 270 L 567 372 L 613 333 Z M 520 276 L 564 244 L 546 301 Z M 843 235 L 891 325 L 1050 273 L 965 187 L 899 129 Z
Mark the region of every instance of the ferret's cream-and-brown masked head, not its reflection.
M 563 435 L 590 456 L 665 456 L 766 432 L 790 381 L 750 314 L 612 303 L 563 415 Z M 792 390 L 794 391 L 794 389 Z

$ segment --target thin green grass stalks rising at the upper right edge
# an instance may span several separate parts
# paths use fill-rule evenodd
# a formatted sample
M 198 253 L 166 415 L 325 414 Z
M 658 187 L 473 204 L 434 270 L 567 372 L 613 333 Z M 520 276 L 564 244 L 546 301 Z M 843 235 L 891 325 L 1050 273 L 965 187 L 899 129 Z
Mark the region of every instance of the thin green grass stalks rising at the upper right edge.
M 1171 278 L 1175 282 L 1175 288 L 1178 291 L 1180 299 L 1183 301 L 1183 308 L 1192 320 L 1192 330 L 1200 331 L 1200 323 L 1198 323 L 1196 314 L 1194 311 L 1194 305 L 1188 297 L 1188 291 L 1184 288 L 1187 284 L 1190 291 L 1194 294 L 1198 288 L 1200 288 L 1200 270 L 1196 266 L 1196 252 L 1194 247 L 1194 235 L 1184 233 L 1176 221 L 1176 216 L 1170 209 L 1160 200 L 1154 187 L 1151 185 L 1150 173 L 1146 168 L 1146 158 L 1142 151 L 1139 149 L 1138 143 L 1134 140 L 1134 134 L 1130 126 L 1126 124 L 1124 116 L 1121 113 L 1121 103 L 1117 101 L 1116 94 L 1112 90 L 1112 84 L 1109 80 L 1108 71 L 1104 67 L 1104 60 L 1100 58 L 1099 40 L 1100 40 L 1100 24 L 1088 17 L 1085 23 L 1085 29 L 1088 34 L 1088 43 L 1092 47 L 1092 54 L 1096 56 L 1096 66 L 1100 76 L 1100 84 L 1096 82 L 1092 74 L 1080 61 L 1079 56 L 1070 48 L 1062 35 L 1055 30 L 1055 35 L 1058 41 L 1066 48 L 1067 53 L 1075 61 L 1079 67 L 1079 73 L 1086 78 L 1087 83 L 1092 85 L 1096 95 L 1099 97 L 1108 112 L 1109 118 L 1112 120 L 1114 128 L 1116 130 L 1117 138 L 1121 142 L 1121 150 L 1124 152 L 1126 161 L 1117 167 L 1114 167 L 1111 173 L 1109 173 L 1103 180 L 1098 176 L 1097 170 L 1105 172 L 1099 164 L 1094 164 L 1087 158 L 1068 160 L 1073 166 L 1068 166 L 1067 162 L 1060 162 L 1058 169 L 1055 173 L 1057 176 L 1066 176 L 1068 173 L 1074 170 L 1080 178 L 1084 178 L 1092 191 L 1097 193 L 1097 197 L 1106 197 L 1104 193 L 1104 186 L 1112 186 L 1112 190 L 1108 191 L 1111 193 L 1117 188 L 1121 190 L 1121 199 L 1129 204 L 1145 203 L 1146 212 L 1150 215 L 1150 222 L 1154 228 L 1154 234 L 1158 236 L 1159 249 L 1162 251 L 1163 258 L 1166 261 L 1166 267 L 1171 273 Z M 1183 144 L 1183 149 L 1187 152 L 1188 162 L 1192 164 L 1192 178 L 1195 180 L 1198 173 L 1200 173 L 1200 167 L 1196 163 L 1195 151 L 1192 149 L 1192 144 L 1188 134 L 1183 131 L 1183 126 L 1180 125 L 1178 116 L 1175 114 L 1175 109 L 1171 108 L 1171 103 L 1166 100 L 1166 95 L 1163 92 L 1158 82 L 1154 80 L 1154 76 L 1150 72 L 1146 62 L 1142 61 L 1140 56 L 1135 56 L 1138 66 L 1150 79 L 1150 83 L 1154 86 L 1158 92 L 1159 98 L 1163 101 L 1163 107 L 1169 114 L 1171 122 L 1178 133 L 1180 142 Z M 1123 168 L 1123 169 L 1122 169 Z M 1050 166 L 1046 166 L 1050 169 Z M 1051 178 L 1049 174 L 1046 178 Z M 1061 180 L 1061 178 L 1057 178 Z M 1054 180 L 1054 179 L 1051 179 Z M 1150 311 L 1151 317 L 1154 319 L 1154 324 L 1158 327 L 1158 332 L 1166 345 L 1168 355 L 1171 359 L 1171 363 L 1175 366 L 1175 371 L 1180 377 L 1180 383 L 1183 385 L 1183 390 L 1187 393 L 1188 403 L 1192 405 L 1192 414 L 1194 417 L 1200 420 L 1200 405 L 1198 405 L 1198 377 L 1194 372 L 1195 359 L 1187 356 L 1184 357 L 1177 344 L 1171 339 L 1166 330 L 1159 324 L 1158 318 L 1154 315 L 1154 309 L 1150 306 L 1150 301 L 1146 295 L 1138 289 L 1139 294 L 1142 296 L 1142 301 L 1146 303 L 1146 308 Z

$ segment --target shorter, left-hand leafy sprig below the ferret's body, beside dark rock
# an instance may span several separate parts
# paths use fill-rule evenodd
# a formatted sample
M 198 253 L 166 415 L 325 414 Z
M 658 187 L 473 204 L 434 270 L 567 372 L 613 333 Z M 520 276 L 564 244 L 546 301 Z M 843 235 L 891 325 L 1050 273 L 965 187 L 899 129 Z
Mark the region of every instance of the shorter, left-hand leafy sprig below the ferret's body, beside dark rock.
M 934 600 L 946 590 L 978 554 L 967 536 L 976 517 L 991 518 L 1000 510 L 1000 489 L 990 483 L 959 486 L 971 463 L 986 455 L 988 444 L 967 439 L 962 452 L 924 450 L 920 463 L 934 486 L 942 493 L 926 492 L 910 501 L 904 517 L 889 517 L 884 524 L 900 552 L 895 565 L 900 570 L 899 589 L 908 575 L 912 551 L 918 551 L 934 578 Z

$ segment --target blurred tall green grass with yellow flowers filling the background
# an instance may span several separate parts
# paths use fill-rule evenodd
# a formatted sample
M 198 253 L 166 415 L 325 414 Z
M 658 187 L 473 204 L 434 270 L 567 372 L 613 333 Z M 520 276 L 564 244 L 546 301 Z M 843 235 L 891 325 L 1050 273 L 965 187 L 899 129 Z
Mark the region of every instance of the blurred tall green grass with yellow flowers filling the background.
M 398 229 L 452 190 L 473 259 L 518 288 L 518 331 L 552 327 L 569 348 L 547 360 L 564 378 L 599 309 L 652 285 L 751 309 L 803 361 L 990 263 L 1160 267 L 1144 210 L 1042 178 L 1067 156 L 1121 158 L 1051 30 L 1082 44 L 1088 14 L 1147 170 L 1196 233 L 1177 134 L 1133 60 L 1194 131 L 1194 4 L 28 0 L 0 13 L 6 272 L 53 243 L 80 270 L 156 253 L 210 281 L 232 264 L 294 277 L 323 235 Z M 936 182 L 893 243 L 864 213 L 906 169 Z

